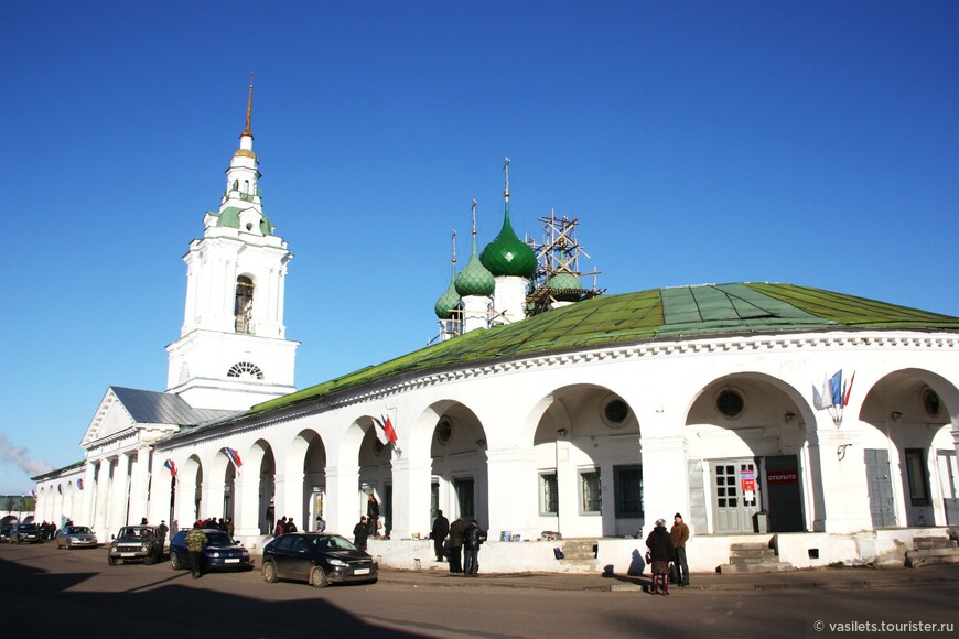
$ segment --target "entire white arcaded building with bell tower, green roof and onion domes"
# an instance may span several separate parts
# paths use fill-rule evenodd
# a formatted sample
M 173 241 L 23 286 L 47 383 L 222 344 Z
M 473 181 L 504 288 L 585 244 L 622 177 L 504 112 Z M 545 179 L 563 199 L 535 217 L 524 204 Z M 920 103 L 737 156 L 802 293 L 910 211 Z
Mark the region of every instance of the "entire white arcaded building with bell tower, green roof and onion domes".
M 527 316 L 537 260 L 508 180 L 503 230 L 483 251 L 474 230 L 434 306 L 443 339 L 295 391 L 291 253 L 262 210 L 250 106 L 219 210 L 184 257 L 166 391 L 109 387 L 85 461 L 35 478 L 37 520 L 109 539 L 141 517 L 228 517 L 259 548 L 271 501 L 348 537 L 373 494 L 382 563 L 427 564 L 442 509 L 489 530 L 485 572 L 625 572 L 637 534 L 677 511 L 693 571 L 742 541 L 794 566 L 902 561 L 959 524 L 959 318 L 790 284 L 586 299 L 573 272 Z M 554 559 L 572 540 L 591 561 Z

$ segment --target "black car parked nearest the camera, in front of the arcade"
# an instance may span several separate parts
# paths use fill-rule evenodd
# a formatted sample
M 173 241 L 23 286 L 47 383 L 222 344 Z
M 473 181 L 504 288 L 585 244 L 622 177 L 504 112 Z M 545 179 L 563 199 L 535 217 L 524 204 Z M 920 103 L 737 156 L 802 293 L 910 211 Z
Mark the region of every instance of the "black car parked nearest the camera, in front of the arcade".
M 309 582 L 317 588 L 341 582 L 376 583 L 377 563 L 338 534 L 294 532 L 263 546 L 263 581 Z

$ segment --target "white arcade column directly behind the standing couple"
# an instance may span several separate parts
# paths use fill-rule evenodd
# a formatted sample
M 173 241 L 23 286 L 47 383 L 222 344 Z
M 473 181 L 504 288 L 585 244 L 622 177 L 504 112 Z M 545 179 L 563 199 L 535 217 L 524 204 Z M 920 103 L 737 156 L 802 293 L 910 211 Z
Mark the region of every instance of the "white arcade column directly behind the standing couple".
M 643 459 L 643 538 L 657 519 L 672 521 L 674 512 L 689 512 L 686 437 L 682 434 L 639 437 Z M 603 494 L 604 499 L 612 495 Z M 608 501 L 604 508 L 613 508 Z M 703 532 L 703 531 L 700 531 Z

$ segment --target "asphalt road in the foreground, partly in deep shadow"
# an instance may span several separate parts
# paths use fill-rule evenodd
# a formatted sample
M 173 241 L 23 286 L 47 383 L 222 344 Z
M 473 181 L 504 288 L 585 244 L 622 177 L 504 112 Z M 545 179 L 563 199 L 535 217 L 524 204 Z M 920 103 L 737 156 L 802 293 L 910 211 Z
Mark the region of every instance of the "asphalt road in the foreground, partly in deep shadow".
M 4 637 L 750 637 L 959 631 L 959 585 L 874 591 L 557 592 L 409 584 L 266 584 L 258 571 L 193 580 L 169 562 L 108 566 L 106 551 L 0 545 Z M 816 625 L 821 621 L 822 629 Z M 916 624 L 952 624 L 951 631 Z M 830 624 L 845 624 L 839 627 Z M 854 626 L 859 624 L 860 626 Z M 913 626 L 902 626 L 912 624 Z M 881 629 L 876 626 L 876 629 Z M 949 628 L 946 628 L 949 630 Z M 875 636 L 876 632 L 869 632 Z M 863 633 L 862 636 L 866 636 Z

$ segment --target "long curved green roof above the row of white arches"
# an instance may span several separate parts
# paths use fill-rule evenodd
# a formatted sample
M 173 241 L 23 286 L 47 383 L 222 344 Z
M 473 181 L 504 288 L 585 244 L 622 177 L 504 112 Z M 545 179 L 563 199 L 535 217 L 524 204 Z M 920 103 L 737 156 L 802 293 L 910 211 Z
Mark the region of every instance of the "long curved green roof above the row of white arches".
M 252 407 L 248 414 L 403 373 L 580 348 L 719 335 L 907 328 L 959 332 L 959 317 L 793 284 L 703 284 L 602 295 L 477 329 Z

